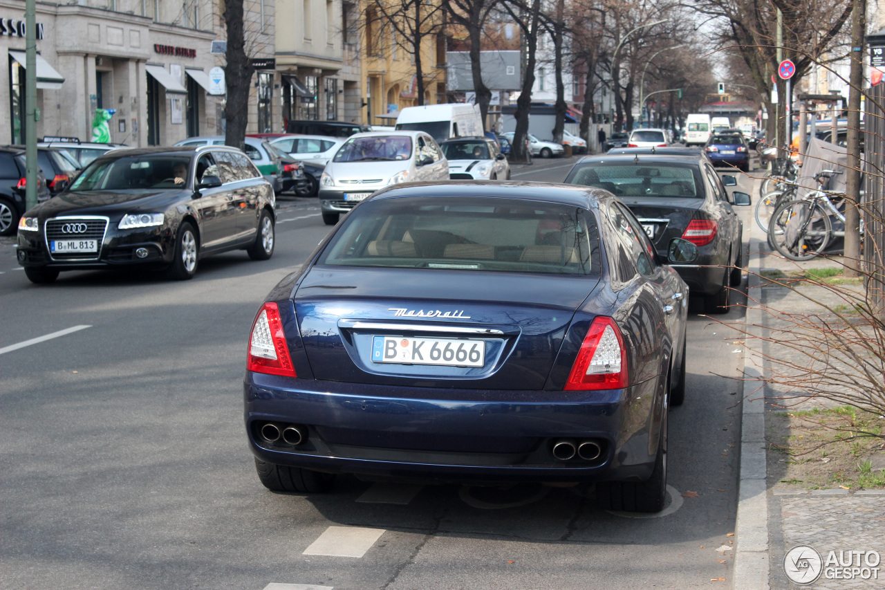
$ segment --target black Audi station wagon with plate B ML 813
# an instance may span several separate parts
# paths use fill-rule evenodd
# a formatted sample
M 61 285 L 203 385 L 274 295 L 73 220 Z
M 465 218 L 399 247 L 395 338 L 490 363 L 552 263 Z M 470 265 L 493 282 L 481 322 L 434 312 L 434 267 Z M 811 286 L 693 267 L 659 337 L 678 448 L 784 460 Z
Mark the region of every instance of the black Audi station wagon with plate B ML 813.
M 165 268 L 196 273 L 210 254 L 273 254 L 273 189 L 223 145 L 109 151 L 19 220 L 19 264 L 33 283 L 62 270 Z

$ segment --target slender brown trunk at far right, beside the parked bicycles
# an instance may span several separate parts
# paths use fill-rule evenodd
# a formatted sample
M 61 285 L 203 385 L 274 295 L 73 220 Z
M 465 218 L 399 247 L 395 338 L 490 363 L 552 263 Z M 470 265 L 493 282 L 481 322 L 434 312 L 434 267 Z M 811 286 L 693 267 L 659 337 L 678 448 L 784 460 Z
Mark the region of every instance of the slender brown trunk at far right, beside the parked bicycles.
M 851 70 L 848 87 L 848 160 L 845 187 L 845 254 L 843 276 L 856 277 L 860 268 L 860 93 L 864 83 L 864 32 L 866 0 L 853 0 L 851 8 Z M 835 138 L 834 138 L 835 139 Z M 834 142 L 835 143 L 835 142 Z

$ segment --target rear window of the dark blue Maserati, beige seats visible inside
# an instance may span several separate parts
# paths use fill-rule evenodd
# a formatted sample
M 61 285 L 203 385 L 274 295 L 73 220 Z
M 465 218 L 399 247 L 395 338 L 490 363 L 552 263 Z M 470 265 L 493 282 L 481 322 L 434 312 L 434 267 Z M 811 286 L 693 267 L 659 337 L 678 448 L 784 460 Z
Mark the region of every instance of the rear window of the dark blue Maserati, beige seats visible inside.
M 518 198 L 379 198 L 358 206 L 318 261 L 333 267 L 597 275 L 596 222 Z

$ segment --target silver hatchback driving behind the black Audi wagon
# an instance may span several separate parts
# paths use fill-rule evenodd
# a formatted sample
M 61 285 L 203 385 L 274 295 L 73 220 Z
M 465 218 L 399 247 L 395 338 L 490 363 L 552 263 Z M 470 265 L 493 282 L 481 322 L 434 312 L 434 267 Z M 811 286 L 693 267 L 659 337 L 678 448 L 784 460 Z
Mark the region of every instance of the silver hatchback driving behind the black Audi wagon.
M 375 190 L 400 182 L 449 180 L 449 161 L 423 131 L 373 131 L 348 137 L 319 179 L 326 225 L 335 225 Z

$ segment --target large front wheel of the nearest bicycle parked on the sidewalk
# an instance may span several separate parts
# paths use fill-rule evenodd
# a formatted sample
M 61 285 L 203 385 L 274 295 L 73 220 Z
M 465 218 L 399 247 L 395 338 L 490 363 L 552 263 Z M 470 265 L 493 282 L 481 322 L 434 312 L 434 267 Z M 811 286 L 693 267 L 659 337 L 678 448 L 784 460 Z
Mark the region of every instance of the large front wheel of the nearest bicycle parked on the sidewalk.
M 797 199 L 777 208 L 768 243 L 789 260 L 812 260 L 833 240 L 833 222 L 816 202 Z

